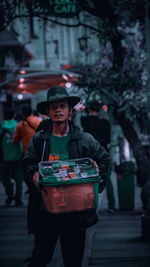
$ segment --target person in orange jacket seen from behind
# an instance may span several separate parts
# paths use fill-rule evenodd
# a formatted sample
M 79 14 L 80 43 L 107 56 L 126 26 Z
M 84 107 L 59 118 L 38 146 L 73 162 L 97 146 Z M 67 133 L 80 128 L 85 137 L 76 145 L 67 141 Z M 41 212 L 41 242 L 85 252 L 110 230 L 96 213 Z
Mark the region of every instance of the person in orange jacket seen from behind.
M 22 142 L 23 153 L 25 153 L 32 136 L 35 134 L 37 127 L 41 120 L 32 114 L 32 108 L 30 106 L 24 106 L 22 108 L 22 114 L 24 116 L 23 121 L 19 121 L 16 126 L 14 134 L 14 142 Z

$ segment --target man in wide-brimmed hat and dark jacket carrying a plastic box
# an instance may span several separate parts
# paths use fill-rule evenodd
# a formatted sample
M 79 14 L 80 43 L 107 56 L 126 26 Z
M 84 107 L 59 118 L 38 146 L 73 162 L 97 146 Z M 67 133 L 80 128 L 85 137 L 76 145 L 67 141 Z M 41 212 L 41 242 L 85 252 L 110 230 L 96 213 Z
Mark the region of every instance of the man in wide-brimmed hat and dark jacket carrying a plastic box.
M 47 92 L 47 101 L 37 104 L 38 112 L 51 118 L 51 126 L 33 136 L 23 159 L 25 179 L 32 188 L 28 227 L 35 243 L 30 267 L 44 267 L 51 261 L 58 237 L 64 266 L 81 267 L 86 228 L 98 221 L 95 209 L 62 214 L 47 212 L 38 187 L 38 163 L 50 160 L 53 153 L 59 160 L 90 156 L 99 167 L 102 181 L 107 177 L 109 154 L 92 135 L 80 132 L 69 120 L 73 106 L 79 101 L 79 97 L 69 96 L 64 87 L 54 86 Z

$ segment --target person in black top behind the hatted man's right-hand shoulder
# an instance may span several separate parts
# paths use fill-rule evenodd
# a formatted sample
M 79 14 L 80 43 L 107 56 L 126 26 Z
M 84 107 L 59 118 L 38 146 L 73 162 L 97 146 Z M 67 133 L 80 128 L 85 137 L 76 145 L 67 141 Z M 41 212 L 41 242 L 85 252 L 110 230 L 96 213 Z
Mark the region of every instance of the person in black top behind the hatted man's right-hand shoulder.
M 111 128 L 110 123 L 106 118 L 103 118 L 100 108 L 102 104 L 98 101 L 91 101 L 89 104 L 89 115 L 81 117 L 81 124 L 84 131 L 91 133 L 109 151 Z M 99 113 L 100 112 L 100 113 Z M 115 212 L 115 197 L 114 189 L 111 181 L 111 170 L 109 168 L 106 181 L 106 194 L 108 199 L 108 212 Z

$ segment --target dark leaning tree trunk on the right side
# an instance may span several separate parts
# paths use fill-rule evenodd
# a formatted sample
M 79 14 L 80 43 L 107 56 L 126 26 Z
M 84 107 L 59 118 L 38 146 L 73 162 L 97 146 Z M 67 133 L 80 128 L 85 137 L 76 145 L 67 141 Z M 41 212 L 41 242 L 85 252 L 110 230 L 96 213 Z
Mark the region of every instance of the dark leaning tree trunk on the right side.
M 117 30 L 116 33 L 118 33 Z M 115 58 L 113 68 L 118 69 L 120 69 L 124 63 L 124 48 L 122 47 L 121 39 L 121 36 L 116 34 L 110 40 Z M 113 115 L 118 124 L 121 126 L 123 133 L 131 146 L 133 155 L 136 159 L 138 174 L 141 176 L 141 185 L 143 185 L 150 180 L 149 155 L 146 153 L 146 150 L 142 145 L 136 130 L 134 129 L 133 123 L 129 119 L 125 118 L 124 113 L 118 113 L 116 108 Z

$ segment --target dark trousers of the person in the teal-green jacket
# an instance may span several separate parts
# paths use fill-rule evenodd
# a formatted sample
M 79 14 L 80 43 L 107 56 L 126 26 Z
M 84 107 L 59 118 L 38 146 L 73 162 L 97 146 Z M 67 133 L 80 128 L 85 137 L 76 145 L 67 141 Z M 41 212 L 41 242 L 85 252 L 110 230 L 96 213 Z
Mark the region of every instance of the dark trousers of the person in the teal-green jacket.
M 5 161 L 2 163 L 2 182 L 9 199 L 13 197 L 14 193 L 12 179 L 16 183 L 15 201 L 17 204 L 20 203 L 22 197 L 23 173 L 21 161 Z

